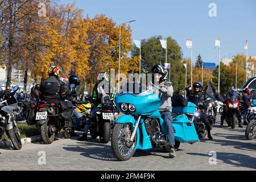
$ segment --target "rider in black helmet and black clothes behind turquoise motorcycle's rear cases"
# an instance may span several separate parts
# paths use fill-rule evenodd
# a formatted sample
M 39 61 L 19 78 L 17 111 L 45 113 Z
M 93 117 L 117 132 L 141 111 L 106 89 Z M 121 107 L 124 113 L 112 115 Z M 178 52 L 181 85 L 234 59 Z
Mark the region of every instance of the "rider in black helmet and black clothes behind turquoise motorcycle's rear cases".
M 200 105 L 200 102 L 204 102 L 206 100 L 206 93 L 203 91 L 203 84 L 199 81 L 193 83 L 192 89 L 189 86 L 187 88 L 187 99 L 189 102 L 197 105 L 197 109 L 200 109 L 200 119 L 205 124 L 205 127 L 208 132 L 208 138 L 212 140 L 212 135 L 210 135 L 210 122 L 208 120 L 207 115 L 203 112 L 202 109 L 205 109 L 205 106 Z

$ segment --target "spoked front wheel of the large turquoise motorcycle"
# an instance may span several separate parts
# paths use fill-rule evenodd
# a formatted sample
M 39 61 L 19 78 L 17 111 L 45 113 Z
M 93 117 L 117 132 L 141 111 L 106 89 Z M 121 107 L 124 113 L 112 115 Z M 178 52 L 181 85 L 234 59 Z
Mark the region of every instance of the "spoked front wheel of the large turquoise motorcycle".
M 111 145 L 113 153 L 118 160 L 129 160 L 135 152 L 137 133 L 134 140 L 130 141 L 133 129 L 132 123 L 115 123 L 114 125 Z

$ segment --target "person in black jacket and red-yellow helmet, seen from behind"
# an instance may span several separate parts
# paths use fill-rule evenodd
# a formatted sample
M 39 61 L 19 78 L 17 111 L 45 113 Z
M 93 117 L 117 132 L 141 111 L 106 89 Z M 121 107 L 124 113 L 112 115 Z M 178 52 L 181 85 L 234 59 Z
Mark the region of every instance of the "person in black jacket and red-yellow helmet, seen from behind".
M 59 80 L 60 68 L 56 66 L 49 67 L 49 77 L 41 82 L 40 98 L 46 102 L 59 105 L 60 100 L 65 99 L 65 84 Z

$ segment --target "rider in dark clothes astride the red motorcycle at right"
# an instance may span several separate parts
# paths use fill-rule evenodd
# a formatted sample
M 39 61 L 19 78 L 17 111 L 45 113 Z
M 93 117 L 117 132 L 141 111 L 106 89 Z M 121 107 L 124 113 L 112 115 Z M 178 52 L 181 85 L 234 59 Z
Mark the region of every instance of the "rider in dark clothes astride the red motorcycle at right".
M 229 90 L 227 96 L 226 96 L 226 100 L 223 103 L 224 104 L 224 108 L 221 114 L 221 125 L 220 127 L 223 127 L 224 124 L 224 119 L 226 118 L 226 112 L 228 110 L 228 100 L 230 100 L 231 97 L 237 97 L 237 99 L 239 98 L 239 93 L 238 93 L 238 89 L 235 86 L 232 86 L 231 90 Z M 238 118 L 238 123 L 239 123 L 239 127 L 242 128 L 243 126 L 241 125 L 242 122 L 242 116 L 241 116 L 241 111 L 238 110 L 237 113 L 237 118 Z M 228 123 L 228 127 L 230 126 L 230 124 Z

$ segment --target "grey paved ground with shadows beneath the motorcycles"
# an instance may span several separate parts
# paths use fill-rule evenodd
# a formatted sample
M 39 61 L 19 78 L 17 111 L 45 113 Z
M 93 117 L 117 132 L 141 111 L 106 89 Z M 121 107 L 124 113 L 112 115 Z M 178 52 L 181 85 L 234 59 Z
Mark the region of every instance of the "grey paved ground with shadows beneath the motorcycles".
M 152 149 L 135 152 L 129 161 L 119 162 L 110 142 L 57 137 L 52 144 L 32 143 L 20 151 L 0 148 L 0 170 L 255 170 L 256 139 L 245 139 L 245 127 L 230 129 L 219 125 L 213 126 L 213 140 L 180 144 L 174 159 L 161 149 Z M 212 155 L 216 160 L 210 158 Z

